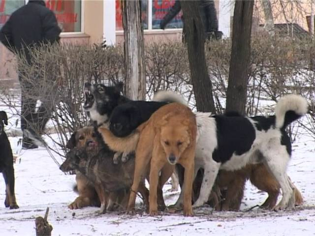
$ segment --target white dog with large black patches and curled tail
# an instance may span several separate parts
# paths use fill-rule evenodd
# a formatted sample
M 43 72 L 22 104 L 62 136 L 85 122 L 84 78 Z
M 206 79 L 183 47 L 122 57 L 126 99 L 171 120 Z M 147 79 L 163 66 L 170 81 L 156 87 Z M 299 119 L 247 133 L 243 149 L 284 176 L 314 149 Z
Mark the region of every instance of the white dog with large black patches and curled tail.
M 165 92 L 169 95 L 169 91 Z M 163 92 L 154 98 L 165 101 Z M 197 145 L 195 175 L 200 168 L 204 177 L 199 198 L 193 207 L 208 201 L 219 170 L 234 171 L 249 163 L 264 163 L 278 180 L 283 198 L 275 210 L 293 208 L 295 186 L 286 174 L 291 155 L 291 143 L 285 127 L 308 112 L 308 103 L 300 95 L 290 94 L 281 98 L 275 108 L 275 116 L 244 117 L 196 113 Z M 183 189 L 182 189 L 183 192 Z M 182 203 L 182 194 L 175 206 Z

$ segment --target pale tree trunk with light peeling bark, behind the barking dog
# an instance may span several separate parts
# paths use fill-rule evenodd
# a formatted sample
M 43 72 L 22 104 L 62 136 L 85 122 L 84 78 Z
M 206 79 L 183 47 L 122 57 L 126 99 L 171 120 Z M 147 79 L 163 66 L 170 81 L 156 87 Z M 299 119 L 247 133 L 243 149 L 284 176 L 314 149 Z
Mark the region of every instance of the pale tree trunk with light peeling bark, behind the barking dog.
M 122 3 L 126 96 L 133 100 L 145 100 L 146 77 L 141 27 L 141 1 L 123 0 Z

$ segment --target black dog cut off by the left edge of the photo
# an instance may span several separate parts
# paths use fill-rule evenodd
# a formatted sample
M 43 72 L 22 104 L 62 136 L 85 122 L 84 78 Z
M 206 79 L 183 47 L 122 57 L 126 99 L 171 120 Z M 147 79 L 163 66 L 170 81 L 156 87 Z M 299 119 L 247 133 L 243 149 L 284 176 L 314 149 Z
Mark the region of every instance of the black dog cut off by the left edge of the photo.
M 13 154 L 8 137 L 4 132 L 4 124 L 8 124 L 8 118 L 5 112 L 0 112 L 0 172 L 2 172 L 5 182 L 4 206 L 16 209 L 19 206 L 16 203 L 14 193 Z

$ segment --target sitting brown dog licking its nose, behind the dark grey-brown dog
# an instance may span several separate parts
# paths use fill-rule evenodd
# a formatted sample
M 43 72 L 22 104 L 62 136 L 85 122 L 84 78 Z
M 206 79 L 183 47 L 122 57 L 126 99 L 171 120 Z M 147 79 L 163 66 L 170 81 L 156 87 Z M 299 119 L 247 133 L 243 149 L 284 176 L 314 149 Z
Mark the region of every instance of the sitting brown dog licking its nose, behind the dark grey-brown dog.
M 88 148 L 90 150 L 97 149 L 98 145 L 95 130 L 93 127 L 85 127 L 75 131 L 66 144 L 66 148 Z M 61 167 L 63 172 L 74 170 L 69 160 L 63 162 Z M 77 197 L 68 207 L 70 209 L 78 209 L 82 207 L 100 207 L 100 202 L 95 191 L 94 184 L 79 171 L 76 173 L 76 187 L 74 188 L 79 197 Z

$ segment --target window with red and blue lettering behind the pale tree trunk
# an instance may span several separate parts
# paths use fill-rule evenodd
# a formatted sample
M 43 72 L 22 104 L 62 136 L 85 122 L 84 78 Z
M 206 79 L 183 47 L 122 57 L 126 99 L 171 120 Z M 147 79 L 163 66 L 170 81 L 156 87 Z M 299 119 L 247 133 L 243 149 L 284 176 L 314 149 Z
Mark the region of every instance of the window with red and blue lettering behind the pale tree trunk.
M 141 19 L 143 29 L 160 29 L 160 21 L 174 4 L 175 0 L 141 0 Z M 166 29 L 183 28 L 182 15 L 182 11 L 180 11 L 167 24 Z M 116 30 L 123 30 L 123 17 L 120 0 L 116 0 Z

